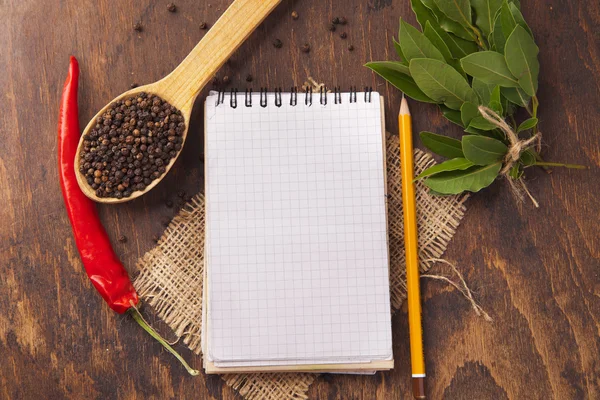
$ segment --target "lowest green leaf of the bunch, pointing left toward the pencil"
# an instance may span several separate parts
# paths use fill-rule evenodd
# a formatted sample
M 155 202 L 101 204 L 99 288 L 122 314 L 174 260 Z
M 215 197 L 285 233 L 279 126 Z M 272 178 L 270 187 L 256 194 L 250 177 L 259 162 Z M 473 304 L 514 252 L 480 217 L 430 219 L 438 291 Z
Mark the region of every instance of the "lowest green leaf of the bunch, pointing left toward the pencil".
M 502 168 L 502 163 L 497 162 L 485 166 L 473 166 L 463 171 L 440 172 L 427 178 L 425 185 L 441 194 L 478 192 L 494 182 L 500 168 Z

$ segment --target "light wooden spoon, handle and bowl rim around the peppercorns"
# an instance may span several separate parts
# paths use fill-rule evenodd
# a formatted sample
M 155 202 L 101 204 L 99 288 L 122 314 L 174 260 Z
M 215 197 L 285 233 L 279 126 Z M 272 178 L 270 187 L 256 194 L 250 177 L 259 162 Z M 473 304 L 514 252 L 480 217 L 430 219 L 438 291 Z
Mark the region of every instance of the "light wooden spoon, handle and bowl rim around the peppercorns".
M 131 97 L 136 93 L 146 92 L 162 97 L 181 111 L 185 118 L 185 132 L 183 133 L 183 143 L 185 143 L 192 107 L 198 93 L 280 2 L 281 0 L 235 0 L 173 72 L 158 82 L 128 90 L 98 111 L 85 127 L 75 156 L 75 175 L 83 193 L 100 203 L 123 203 L 140 197 L 154 188 L 167 175 L 181 150 L 169 161 L 165 173 L 146 186 L 144 190 L 135 191 L 130 197 L 122 199 L 98 197 L 96 191 L 87 183 L 85 176 L 79 172 L 81 161 L 79 154 L 83 146 L 84 135 L 96 125 L 96 118 L 102 116 L 112 103 L 124 97 Z

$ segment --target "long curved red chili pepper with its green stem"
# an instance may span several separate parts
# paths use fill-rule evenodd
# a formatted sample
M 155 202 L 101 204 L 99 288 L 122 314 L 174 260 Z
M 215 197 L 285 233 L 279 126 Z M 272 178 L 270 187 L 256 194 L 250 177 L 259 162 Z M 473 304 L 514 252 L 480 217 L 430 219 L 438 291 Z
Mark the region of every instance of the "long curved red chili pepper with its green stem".
M 77 86 L 79 83 L 79 63 L 71 57 L 69 75 L 63 86 L 58 118 L 58 172 L 60 187 L 65 200 L 67 214 L 71 221 L 75 244 L 81 261 L 92 284 L 110 308 L 122 314 L 129 312 L 133 319 L 158 340 L 170 353 L 175 355 L 192 375 L 192 369 L 185 360 L 150 327 L 138 311 L 138 294 L 129 275 L 115 254 L 108 235 L 98 218 L 95 203 L 87 198 L 77 184 L 75 157 L 79 144 L 79 108 Z

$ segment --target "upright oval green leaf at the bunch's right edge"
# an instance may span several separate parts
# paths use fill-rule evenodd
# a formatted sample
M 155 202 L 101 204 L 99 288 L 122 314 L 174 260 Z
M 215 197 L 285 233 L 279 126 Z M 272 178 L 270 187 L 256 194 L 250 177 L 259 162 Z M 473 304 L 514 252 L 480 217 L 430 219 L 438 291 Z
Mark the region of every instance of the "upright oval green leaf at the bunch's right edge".
M 535 96 L 538 87 L 540 63 L 539 48 L 527 31 L 517 26 L 506 40 L 504 56 L 508 69 L 517 78 L 519 86 L 529 96 Z

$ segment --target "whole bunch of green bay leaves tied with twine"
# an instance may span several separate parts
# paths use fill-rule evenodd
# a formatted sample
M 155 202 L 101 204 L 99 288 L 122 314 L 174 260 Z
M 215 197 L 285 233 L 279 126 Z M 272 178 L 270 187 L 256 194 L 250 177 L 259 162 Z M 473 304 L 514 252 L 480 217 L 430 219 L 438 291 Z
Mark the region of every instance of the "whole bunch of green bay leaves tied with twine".
M 417 179 L 425 178 L 433 193 L 447 195 L 477 192 L 500 174 L 521 180 L 524 169 L 534 165 L 579 167 L 542 161 L 528 140 L 538 137 L 540 64 L 519 1 L 411 0 L 411 5 L 421 31 L 400 21 L 394 47 L 401 61 L 366 66 L 407 96 L 437 104 L 465 131 L 461 140 L 421 132 L 423 145 L 448 160 Z M 501 123 L 487 112 L 485 118 L 481 106 Z M 521 108 L 527 118 L 517 123 Z M 530 145 L 521 145 L 526 142 Z

